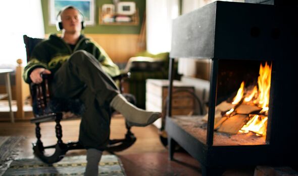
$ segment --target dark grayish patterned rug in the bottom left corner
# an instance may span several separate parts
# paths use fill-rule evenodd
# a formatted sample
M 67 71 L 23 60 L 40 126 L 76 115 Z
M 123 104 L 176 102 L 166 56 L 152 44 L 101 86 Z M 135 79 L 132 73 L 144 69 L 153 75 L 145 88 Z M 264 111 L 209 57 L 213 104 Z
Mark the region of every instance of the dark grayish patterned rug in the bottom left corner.
M 0 136 L 0 175 L 9 167 L 18 156 L 21 142 L 26 138 L 22 136 Z

